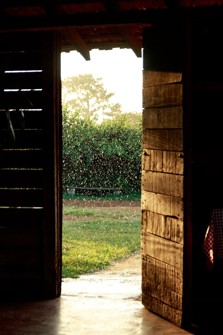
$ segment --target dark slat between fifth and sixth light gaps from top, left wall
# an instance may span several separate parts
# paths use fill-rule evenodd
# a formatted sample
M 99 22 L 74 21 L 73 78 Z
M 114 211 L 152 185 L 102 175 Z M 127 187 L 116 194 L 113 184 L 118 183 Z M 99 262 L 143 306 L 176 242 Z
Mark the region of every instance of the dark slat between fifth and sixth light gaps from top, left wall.
M 4 149 L 2 150 L 2 168 L 36 168 L 43 164 L 42 149 Z

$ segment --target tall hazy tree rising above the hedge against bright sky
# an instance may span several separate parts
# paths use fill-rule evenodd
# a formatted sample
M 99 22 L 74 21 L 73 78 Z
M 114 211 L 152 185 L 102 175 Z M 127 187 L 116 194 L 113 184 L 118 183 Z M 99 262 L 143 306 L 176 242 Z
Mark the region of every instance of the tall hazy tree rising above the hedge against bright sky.
M 92 74 L 79 74 L 64 79 L 62 93 L 66 99 L 69 93 L 72 94 L 70 97 L 73 97 L 68 100 L 68 106 L 70 109 L 78 109 L 84 119 L 97 120 L 101 112 L 104 120 L 104 115 L 113 116 L 121 108 L 118 103 L 109 103 L 114 93 L 107 93 L 102 78 L 95 79 Z

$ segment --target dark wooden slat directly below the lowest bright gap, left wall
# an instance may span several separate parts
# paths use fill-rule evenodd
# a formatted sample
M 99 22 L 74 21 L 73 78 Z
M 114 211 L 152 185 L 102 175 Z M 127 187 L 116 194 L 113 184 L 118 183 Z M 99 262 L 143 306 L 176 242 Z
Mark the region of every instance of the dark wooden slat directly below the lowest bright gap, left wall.
M 1 208 L 0 227 L 43 228 L 42 208 Z M 32 218 L 30 220 L 30 217 Z

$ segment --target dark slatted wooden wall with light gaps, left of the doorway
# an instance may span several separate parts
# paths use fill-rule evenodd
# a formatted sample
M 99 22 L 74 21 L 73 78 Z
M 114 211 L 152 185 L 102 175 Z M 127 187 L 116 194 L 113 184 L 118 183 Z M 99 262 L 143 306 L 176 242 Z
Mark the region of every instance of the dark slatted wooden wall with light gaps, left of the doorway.
M 52 32 L 1 37 L 0 282 L 7 295 L 60 294 L 59 59 Z

